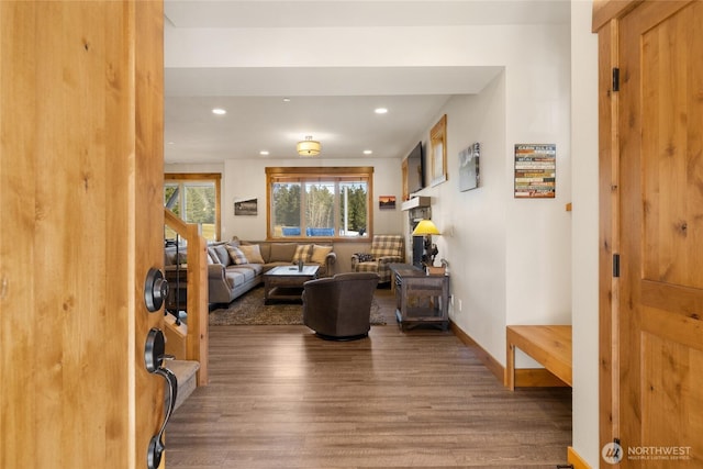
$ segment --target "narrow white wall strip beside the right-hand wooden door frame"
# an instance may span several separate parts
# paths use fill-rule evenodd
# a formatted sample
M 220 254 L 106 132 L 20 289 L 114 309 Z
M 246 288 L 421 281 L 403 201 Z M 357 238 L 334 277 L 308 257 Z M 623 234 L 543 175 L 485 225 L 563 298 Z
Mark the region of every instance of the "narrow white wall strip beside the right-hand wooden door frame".
M 598 331 L 598 36 L 592 2 L 571 2 L 571 146 L 573 148 L 572 324 L 573 448 L 599 467 Z

